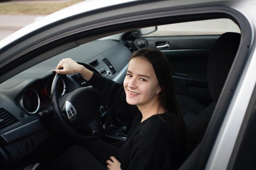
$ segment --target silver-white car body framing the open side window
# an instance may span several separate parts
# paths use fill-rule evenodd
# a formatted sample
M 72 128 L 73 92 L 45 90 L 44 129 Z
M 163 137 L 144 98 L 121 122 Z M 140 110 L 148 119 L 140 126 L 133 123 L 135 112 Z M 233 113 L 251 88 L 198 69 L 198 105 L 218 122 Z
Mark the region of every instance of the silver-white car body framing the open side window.
M 126 7 L 126 4 L 129 5 Z M 31 59 L 30 62 L 29 60 L 26 60 L 25 62 L 21 62 L 17 68 L 14 68 L 14 66 L 11 65 L 14 61 L 18 60 L 20 56 L 25 56 L 30 52 L 32 53 L 34 50 L 40 49 L 52 42 L 57 42 L 58 40 L 61 41 L 61 39 L 72 37 L 73 35 L 78 35 L 79 33 L 86 34 L 87 32 L 90 33 L 90 31 L 93 30 L 108 28 L 108 26 L 115 28 L 115 26 L 124 25 L 125 27 L 132 22 L 153 20 L 153 18 L 157 20 L 157 18 L 164 17 L 178 18 L 179 15 L 207 14 L 207 10 L 209 10 L 209 13 L 225 13 L 226 15 L 229 15 L 230 18 L 235 18 L 234 20 L 236 20 L 238 26 L 240 26 L 242 35 L 240 48 L 236 54 L 237 57 L 235 60 L 235 66 L 239 65 L 239 63 L 237 63 L 238 61 L 243 62 L 243 64 L 240 63 L 236 76 L 229 73 L 229 76 L 227 77 L 227 81 L 223 88 L 224 90 L 222 90 L 220 99 L 218 100 L 215 108 L 215 115 L 218 115 L 217 112 L 219 112 L 221 107 L 223 107 L 222 103 L 227 100 L 225 98 L 225 95 L 227 94 L 225 89 L 233 87 L 234 89 L 232 88 L 232 90 L 234 91 L 231 92 L 231 98 L 229 102 L 227 102 L 225 117 L 221 123 L 221 126 L 219 126 L 218 135 L 216 136 L 214 144 L 212 145 L 209 157 L 207 158 L 207 161 L 204 162 L 205 170 L 230 169 L 229 163 L 230 160 L 234 159 L 232 158 L 232 154 L 234 154 L 233 151 L 236 149 L 236 142 L 238 142 L 237 139 L 241 133 L 240 130 L 243 125 L 244 117 L 247 113 L 249 102 L 252 99 L 252 94 L 256 84 L 255 0 L 86 0 L 29 24 L 28 26 L 0 41 L 0 71 L 8 71 L 8 75 L 7 73 L 2 72 L 0 75 L 0 83 L 3 83 L 21 71 L 26 70 L 30 66 L 47 60 L 50 55 L 49 57 L 43 56 L 35 58 L 34 60 Z M 102 20 L 100 20 L 100 15 L 103 15 Z M 73 21 L 71 22 L 70 18 L 78 18 L 78 21 L 83 20 L 83 26 L 74 27 L 74 30 L 72 30 L 72 24 L 74 24 L 75 21 L 72 23 Z M 112 20 L 110 20 L 110 18 L 112 18 Z M 194 19 L 195 18 L 192 20 Z M 69 22 L 66 23 L 65 20 Z M 79 25 L 78 23 L 75 24 Z M 145 26 L 139 25 L 138 28 L 151 25 L 153 24 L 146 24 Z M 47 32 L 49 31 L 48 26 L 54 29 L 60 28 L 62 32 L 58 34 L 58 31 L 56 31 L 55 34 L 50 34 Z M 67 29 L 63 29 L 66 26 Z M 129 28 L 124 27 L 122 27 L 120 31 L 110 29 L 107 30 L 106 33 L 101 32 L 99 35 L 85 35 L 83 41 L 90 42 L 92 40 L 114 34 L 116 38 L 121 38 L 121 35 L 123 35 L 124 32 L 137 29 L 137 26 L 135 25 L 132 25 Z M 45 31 L 45 33 L 49 33 L 47 35 L 51 35 L 52 37 L 43 38 L 42 35 L 38 35 L 39 38 L 37 44 L 33 44 L 34 39 L 30 40 L 29 36 L 32 38 L 35 36 L 36 39 L 36 34 L 39 34 L 40 30 Z M 33 33 L 35 33 L 35 35 Z M 117 33 L 121 34 L 117 36 Z M 28 46 L 24 45 L 24 43 L 27 42 L 29 42 Z M 77 44 L 70 42 L 70 45 L 68 46 L 70 46 L 70 49 L 72 49 L 76 45 Z M 18 49 L 19 46 L 21 46 L 23 49 Z M 58 47 L 56 47 L 56 49 L 57 48 Z M 56 55 L 57 54 L 58 52 Z M 13 68 L 7 69 L 7 65 L 11 65 Z M 231 71 L 236 71 L 237 68 L 235 68 L 235 66 L 233 64 Z M 125 68 L 127 68 L 127 65 Z M 232 86 L 229 86 L 230 82 L 233 83 Z M 213 126 L 211 122 L 209 126 Z M 204 137 L 209 137 L 209 135 L 210 134 Z M 207 144 L 204 144 L 204 147 L 206 146 Z

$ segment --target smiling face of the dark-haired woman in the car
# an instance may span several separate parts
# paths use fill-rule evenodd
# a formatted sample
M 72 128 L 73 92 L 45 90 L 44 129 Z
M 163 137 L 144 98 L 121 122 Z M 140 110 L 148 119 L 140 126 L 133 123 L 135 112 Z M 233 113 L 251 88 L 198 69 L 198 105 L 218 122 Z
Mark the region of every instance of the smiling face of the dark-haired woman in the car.
M 124 90 L 128 104 L 150 106 L 158 102 L 160 87 L 153 66 L 145 57 L 130 60 Z

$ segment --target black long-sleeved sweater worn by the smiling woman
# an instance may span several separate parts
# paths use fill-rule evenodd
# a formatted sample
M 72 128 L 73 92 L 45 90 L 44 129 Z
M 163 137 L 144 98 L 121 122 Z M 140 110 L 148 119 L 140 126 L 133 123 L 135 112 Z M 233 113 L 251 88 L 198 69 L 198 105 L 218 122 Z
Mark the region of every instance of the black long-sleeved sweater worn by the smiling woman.
M 153 115 L 141 123 L 142 115 L 137 106 L 126 102 L 123 86 L 96 73 L 88 83 L 116 113 L 135 117 L 120 148 L 122 170 L 175 170 L 180 166 L 184 155 L 177 150 L 180 147 L 168 113 Z

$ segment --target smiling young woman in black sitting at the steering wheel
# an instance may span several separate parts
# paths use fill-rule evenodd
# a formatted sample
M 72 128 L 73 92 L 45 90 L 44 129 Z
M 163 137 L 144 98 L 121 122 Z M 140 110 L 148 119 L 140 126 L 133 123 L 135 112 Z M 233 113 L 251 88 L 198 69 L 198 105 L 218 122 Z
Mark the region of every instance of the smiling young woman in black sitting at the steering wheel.
M 175 97 L 171 68 L 162 52 L 135 51 L 124 86 L 70 58 L 60 61 L 53 73 L 80 73 L 108 106 L 136 115 L 126 143 L 120 148 L 120 160 L 113 155 L 106 160 L 109 170 L 175 170 L 189 154 L 189 138 Z

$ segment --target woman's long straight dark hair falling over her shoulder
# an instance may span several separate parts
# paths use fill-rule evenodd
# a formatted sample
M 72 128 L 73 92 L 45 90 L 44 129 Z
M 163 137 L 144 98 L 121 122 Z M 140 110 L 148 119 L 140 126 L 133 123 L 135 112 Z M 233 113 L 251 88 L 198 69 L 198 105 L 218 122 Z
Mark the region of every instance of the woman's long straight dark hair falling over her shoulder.
M 166 110 L 166 113 L 168 113 L 174 123 L 177 141 L 183 143 L 180 146 L 186 145 L 191 148 L 191 135 L 186 128 L 175 95 L 171 66 L 167 57 L 161 51 L 154 49 L 139 49 L 132 54 L 130 60 L 134 57 L 145 57 L 152 64 L 162 90 L 161 93 L 159 93 L 159 103 Z

